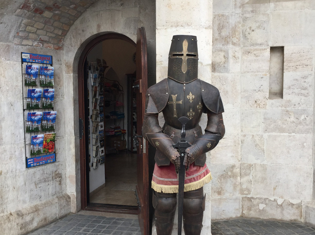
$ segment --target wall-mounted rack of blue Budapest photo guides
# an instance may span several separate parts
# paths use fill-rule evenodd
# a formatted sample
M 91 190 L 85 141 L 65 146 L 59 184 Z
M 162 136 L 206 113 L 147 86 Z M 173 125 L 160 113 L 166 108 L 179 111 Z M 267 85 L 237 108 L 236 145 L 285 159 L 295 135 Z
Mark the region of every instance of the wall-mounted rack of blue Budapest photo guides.
M 26 168 L 56 161 L 52 56 L 21 52 Z

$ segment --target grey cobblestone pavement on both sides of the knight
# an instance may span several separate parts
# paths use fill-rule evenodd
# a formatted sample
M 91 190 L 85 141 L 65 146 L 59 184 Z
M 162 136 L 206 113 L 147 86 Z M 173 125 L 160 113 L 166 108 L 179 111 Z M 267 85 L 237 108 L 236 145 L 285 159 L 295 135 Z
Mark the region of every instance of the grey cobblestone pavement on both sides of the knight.
M 128 217 L 128 216 L 127 216 Z M 284 222 L 237 218 L 211 223 L 212 235 L 315 235 L 315 226 L 300 222 Z M 141 235 L 138 219 L 99 215 L 72 214 L 28 235 Z

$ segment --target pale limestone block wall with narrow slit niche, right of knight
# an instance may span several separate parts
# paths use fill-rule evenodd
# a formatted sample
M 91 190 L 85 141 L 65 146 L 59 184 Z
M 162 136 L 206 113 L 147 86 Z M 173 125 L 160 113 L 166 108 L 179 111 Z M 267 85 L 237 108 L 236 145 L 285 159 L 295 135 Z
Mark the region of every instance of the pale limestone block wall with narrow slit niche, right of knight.
M 314 223 L 314 5 L 224 3 L 213 3 L 226 137 L 212 151 L 212 218 Z M 284 46 L 283 98 L 269 98 L 271 46 Z

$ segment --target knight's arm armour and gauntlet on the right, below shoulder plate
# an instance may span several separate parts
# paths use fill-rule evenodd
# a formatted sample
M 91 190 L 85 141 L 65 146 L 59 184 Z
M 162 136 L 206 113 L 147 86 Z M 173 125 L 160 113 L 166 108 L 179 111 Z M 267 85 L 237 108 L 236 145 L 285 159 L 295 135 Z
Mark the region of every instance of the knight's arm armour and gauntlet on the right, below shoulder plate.
M 225 127 L 223 124 L 222 114 L 209 114 L 208 123 L 205 128 L 205 133 L 198 136 L 192 146 L 186 149 L 184 165 L 189 169 L 192 164 L 199 156 L 212 150 L 219 143 L 220 139 L 225 134 Z

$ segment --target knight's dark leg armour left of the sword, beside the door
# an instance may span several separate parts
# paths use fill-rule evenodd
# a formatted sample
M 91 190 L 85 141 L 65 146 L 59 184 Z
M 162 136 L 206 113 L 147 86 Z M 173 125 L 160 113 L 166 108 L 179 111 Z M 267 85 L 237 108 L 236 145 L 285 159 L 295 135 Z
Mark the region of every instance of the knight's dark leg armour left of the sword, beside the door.
M 176 211 L 176 193 L 166 194 L 153 191 L 152 203 L 156 217 L 157 235 L 171 235 Z

